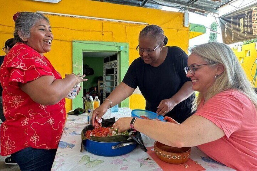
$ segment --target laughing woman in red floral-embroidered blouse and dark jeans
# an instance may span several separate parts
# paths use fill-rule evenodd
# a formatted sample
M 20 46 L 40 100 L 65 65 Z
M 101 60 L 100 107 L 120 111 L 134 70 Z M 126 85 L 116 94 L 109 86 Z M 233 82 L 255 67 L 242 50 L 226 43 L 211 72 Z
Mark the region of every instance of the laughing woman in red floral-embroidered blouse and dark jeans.
M 11 154 L 22 171 L 51 170 L 66 118 L 64 97 L 87 79 L 80 74 L 62 78 L 43 55 L 53 41 L 48 18 L 18 12 L 13 19 L 17 43 L 0 69 L 6 118 L 1 155 Z

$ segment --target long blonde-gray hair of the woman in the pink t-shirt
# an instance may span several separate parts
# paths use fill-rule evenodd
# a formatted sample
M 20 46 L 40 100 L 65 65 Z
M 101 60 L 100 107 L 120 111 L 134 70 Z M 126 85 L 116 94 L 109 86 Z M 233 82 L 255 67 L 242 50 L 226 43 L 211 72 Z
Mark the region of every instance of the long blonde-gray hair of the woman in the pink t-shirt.
M 195 97 L 192 111 L 197 109 L 202 100 L 206 102 L 215 94 L 229 89 L 236 89 L 245 94 L 257 108 L 257 94 L 229 46 L 223 43 L 209 42 L 195 46 L 190 51 L 208 64 L 219 63 L 224 66 L 224 72 L 216 77 L 214 84 L 207 90 L 207 94 L 203 96 L 199 92 L 199 95 Z

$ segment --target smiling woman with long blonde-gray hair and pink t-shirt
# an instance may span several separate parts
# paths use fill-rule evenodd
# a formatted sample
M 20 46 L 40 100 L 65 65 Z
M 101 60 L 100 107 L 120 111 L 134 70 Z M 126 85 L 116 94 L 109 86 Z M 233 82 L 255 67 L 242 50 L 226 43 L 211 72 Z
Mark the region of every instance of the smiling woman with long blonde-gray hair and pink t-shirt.
M 133 127 L 169 146 L 198 146 L 212 159 L 236 170 L 257 168 L 257 95 L 233 51 L 210 42 L 192 48 L 185 67 L 199 95 L 196 113 L 181 124 L 120 118 L 119 132 Z M 132 126 L 131 126 L 132 125 Z

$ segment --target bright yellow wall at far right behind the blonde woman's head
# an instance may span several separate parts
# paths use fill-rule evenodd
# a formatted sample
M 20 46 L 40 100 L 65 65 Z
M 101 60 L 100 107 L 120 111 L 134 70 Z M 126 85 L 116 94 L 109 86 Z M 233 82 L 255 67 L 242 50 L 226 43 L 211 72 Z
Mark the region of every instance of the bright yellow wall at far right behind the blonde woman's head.
M 255 49 L 255 43 L 251 44 L 245 44 L 242 45 L 242 51 L 238 47 L 232 48 L 234 51 L 236 57 L 239 59 L 240 64 L 242 65 L 249 81 L 252 82 L 253 76 L 255 75 L 255 70 L 256 70 L 256 58 L 257 58 L 257 51 Z M 250 51 L 250 56 L 247 56 L 247 52 Z M 254 64 L 255 62 L 255 64 Z M 252 72 L 251 72 L 252 69 Z M 252 76 L 252 75 L 253 76 Z M 255 86 L 257 87 L 257 84 L 255 83 Z

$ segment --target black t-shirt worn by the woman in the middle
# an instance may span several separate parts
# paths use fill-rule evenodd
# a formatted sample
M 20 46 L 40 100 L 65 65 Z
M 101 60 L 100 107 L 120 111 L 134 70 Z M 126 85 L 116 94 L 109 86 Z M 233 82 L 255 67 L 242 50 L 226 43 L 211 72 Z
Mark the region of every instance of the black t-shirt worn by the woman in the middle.
M 186 77 L 188 55 L 181 48 L 168 47 L 168 53 L 161 65 L 153 67 L 139 57 L 129 66 L 123 83 L 129 87 L 139 87 L 146 100 L 145 110 L 156 112 L 161 100 L 169 99 L 176 94 L 182 85 L 191 81 Z M 182 123 L 192 115 L 191 104 L 194 95 L 176 105 L 165 116 L 172 117 Z

